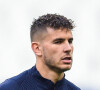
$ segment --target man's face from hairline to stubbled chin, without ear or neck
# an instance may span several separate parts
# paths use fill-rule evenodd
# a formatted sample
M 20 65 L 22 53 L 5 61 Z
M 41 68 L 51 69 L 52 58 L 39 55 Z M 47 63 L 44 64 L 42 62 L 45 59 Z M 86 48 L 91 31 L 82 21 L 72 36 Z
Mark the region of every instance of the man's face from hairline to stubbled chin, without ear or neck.
M 64 72 L 72 66 L 73 36 L 67 29 L 47 29 L 42 43 L 43 63 L 56 72 Z

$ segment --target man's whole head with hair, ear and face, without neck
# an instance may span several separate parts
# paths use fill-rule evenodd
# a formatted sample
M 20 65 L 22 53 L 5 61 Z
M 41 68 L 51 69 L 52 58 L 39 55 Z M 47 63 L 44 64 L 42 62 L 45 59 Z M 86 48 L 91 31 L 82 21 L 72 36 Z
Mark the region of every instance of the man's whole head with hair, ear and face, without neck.
M 71 68 L 73 28 L 71 19 L 57 14 L 43 15 L 33 22 L 30 35 L 39 65 L 56 72 Z

